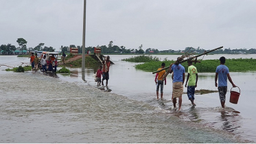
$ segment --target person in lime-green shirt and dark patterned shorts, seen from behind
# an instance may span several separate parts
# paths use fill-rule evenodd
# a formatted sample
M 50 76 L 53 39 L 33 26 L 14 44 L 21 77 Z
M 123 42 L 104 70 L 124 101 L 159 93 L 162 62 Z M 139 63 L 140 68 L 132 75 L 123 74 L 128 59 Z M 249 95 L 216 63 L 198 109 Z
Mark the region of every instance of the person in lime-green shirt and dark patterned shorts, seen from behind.
M 187 64 L 189 64 L 189 67 L 187 69 L 187 81 L 189 84 L 187 85 L 187 81 L 185 84 L 185 87 L 187 87 L 187 97 L 189 97 L 189 100 L 191 101 L 191 104 L 193 106 L 196 106 L 194 103 L 195 99 L 195 88 L 198 84 L 198 71 L 194 65 L 192 65 L 191 60 L 187 61 Z

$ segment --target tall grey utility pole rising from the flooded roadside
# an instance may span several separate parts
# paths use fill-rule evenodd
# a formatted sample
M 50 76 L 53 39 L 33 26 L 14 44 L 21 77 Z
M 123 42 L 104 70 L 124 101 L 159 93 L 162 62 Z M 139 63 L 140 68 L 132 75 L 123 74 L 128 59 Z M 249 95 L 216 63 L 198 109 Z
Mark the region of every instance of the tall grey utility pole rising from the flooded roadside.
M 85 67 L 85 24 L 86 24 L 86 0 L 84 0 L 84 19 L 83 19 L 83 29 L 82 29 L 82 80 L 86 82 L 84 76 Z

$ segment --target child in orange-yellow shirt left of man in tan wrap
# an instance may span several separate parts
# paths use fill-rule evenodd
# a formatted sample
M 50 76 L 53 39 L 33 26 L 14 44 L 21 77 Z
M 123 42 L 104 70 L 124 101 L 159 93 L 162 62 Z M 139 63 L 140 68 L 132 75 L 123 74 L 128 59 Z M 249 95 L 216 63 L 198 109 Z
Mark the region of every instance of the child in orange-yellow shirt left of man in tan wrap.
M 161 68 L 157 69 L 157 71 L 161 70 L 165 68 L 165 62 L 163 62 L 161 64 Z M 156 73 L 156 77 L 154 79 L 154 82 L 156 82 L 156 98 L 159 99 L 159 86 L 161 87 L 161 99 L 163 99 L 163 75 L 165 75 L 165 70 L 163 71 L 160 71 L 158 73 Z M 157 81 L 156 81 L 156 78 L 157 78 Z M 166 78 L 165 78 L 165 85 L 166 85 Z

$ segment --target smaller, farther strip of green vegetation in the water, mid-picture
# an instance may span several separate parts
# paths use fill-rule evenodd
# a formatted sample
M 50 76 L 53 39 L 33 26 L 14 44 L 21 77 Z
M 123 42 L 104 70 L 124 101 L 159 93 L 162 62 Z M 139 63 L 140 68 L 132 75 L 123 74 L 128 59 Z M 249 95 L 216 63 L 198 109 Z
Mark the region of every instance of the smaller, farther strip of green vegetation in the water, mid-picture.
M 142 55 L 142 56 L 135 56 L 135 57 L 132 56 L 132 58 L 126 58 L 123 60 L 127 62 L 158 62 L 159 58 L 156 58 L 150 55 L 148 56 Z

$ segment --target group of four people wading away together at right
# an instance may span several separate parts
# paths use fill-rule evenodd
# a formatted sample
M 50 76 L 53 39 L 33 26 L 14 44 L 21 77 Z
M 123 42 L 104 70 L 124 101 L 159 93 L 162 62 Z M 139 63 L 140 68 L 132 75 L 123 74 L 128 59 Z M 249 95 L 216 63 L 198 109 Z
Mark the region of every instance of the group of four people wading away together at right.
M 215 76 L 215 86 L 218 87 L 220 104 L 222 108 L 224 108 L 224 104 L 226 101 L 226 91 L 227 91 L 227 79 L 231 82 L 233 87 L 236 87 L 233 83 L 231 76 L 229 75 L 229 68 L 225 65 L 226 58 L 223 56 L 220 58 L 220 65 L 216 68 L 216 76 Z M 198 71 L 196 67 L 192 64 L 191 61 L 188 61 L 188 70 L 187 70 L 187 80 L 185 83 L 185 87 L 187 87 L 187 97 L 191 101 L 193 106 L 196 106 L 194 103 L 195 99 L 195 88 L 198 83 Z M 165 67 L 165 63 L 161 64 L 161 70 Z M 176 99 L 178 98 L 178 110 L 181 110 L 182 104 L 182 95 L 183 95 L 183 84 L 185 82 L 185 68 L 181 64 L 171 64 L 169 67 L 169 71 L 172 74 L 172 101 L 174 104 L 174 108 L 176 108 Z M 165 70 L 156 73 L 156 78 L 158 81 L 156 82 L 156 98 L 159 99 L 159 86 L 161 87 L 161 99 L 163 99 L 163 80 L 161 77 L 165 74 Z M 218 80 L 218 83 L 217 83 Z M 165 85 L 166 85 L 166 80 Z

